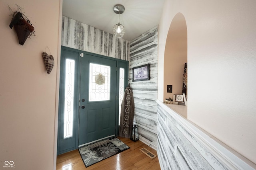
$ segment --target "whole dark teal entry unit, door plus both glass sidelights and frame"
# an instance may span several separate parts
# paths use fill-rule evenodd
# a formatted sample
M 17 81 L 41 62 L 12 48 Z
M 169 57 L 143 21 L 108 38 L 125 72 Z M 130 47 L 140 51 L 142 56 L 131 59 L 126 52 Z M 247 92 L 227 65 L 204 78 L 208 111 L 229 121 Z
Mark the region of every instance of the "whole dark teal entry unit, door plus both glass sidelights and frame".
M 127 84 L 127 61 L 62 47 L 57 154 L 116 136 Z

